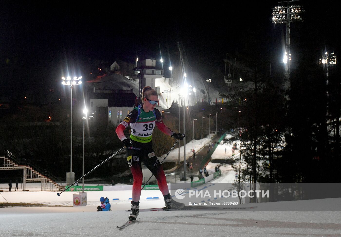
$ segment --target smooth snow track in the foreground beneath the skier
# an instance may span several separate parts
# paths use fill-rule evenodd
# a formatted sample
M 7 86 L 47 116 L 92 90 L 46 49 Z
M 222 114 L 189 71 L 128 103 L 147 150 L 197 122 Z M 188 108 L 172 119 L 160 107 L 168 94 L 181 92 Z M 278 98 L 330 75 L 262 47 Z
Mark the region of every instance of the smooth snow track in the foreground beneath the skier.
M 146 191 L 147 192 L 147 191 Z M 149 192 L 149 191 L 148 191 Z M 57 195 L 56 195 L 57 198 Z M 293 205 L 323 205 L 341 199 L 307 200 Z M 153 203 L 151 203 L 153 202 Z M 142 207 L 162 206 L 162 201 L 143 201 Z M 113 203 L 112 203 L 113 205 Z M 258 208 L 268 203 L 257 204 Z M 276 205 L 281 205 L 277 203 Z M 0 209 L 1 236 L 341 236 L 341 212 L 140 212 L 138 222 L 119 230 L 129 215 L 113 205 L 108 212 L 87 207 L 15 207 Z

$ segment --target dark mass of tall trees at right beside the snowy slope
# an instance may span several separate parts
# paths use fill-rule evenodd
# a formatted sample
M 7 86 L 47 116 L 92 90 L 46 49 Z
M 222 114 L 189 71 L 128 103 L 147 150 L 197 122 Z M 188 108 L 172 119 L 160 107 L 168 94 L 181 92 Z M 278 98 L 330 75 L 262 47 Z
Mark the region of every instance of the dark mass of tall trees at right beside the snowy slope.
M 222 94 L 234 110 L 235 133 L 225 142 L 239 140 L 239 182 L 340 181 L 339 69 L 327 78 L 322 65 L 302 64 L 291 76 L 287 94 L 256 70 L 248 78 L 252 87 Z

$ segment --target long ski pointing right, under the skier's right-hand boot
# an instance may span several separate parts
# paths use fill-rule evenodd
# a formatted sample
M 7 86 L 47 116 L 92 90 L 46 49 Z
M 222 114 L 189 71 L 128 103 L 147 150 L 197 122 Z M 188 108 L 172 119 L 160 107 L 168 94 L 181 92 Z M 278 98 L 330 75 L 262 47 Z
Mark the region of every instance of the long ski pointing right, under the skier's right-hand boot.
M 242 210 L 252 210 L 257 207 L 208 207 L 208 206 L 185 206 L 181 209 L 171 209 L 167 207 L 159 207 L 159 208 L 145 208 L 140 209 L 139 211 L 242 211 Z M 130 210 L 125 210 L 130 211 Z

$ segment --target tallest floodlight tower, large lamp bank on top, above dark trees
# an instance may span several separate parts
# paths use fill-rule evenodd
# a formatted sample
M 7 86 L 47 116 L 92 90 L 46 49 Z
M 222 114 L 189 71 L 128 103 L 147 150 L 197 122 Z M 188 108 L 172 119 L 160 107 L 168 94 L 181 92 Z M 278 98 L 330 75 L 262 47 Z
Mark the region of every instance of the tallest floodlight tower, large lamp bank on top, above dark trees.
M 272 9 L 272 23 L 286 24 L 286 41 L 285 49 L 283 49 L 283 63 L 285 65 L 285 91 L 290 89 L 290 23 L 302 21 L 301 14 L 304 12 L 302 6 L 298 5 L 297 3 L 297 0 L 278 2 L 279 6 L 275 6 L 275 8 Z M 282 4 L 286 4 L 286 6 L 283 6 Z

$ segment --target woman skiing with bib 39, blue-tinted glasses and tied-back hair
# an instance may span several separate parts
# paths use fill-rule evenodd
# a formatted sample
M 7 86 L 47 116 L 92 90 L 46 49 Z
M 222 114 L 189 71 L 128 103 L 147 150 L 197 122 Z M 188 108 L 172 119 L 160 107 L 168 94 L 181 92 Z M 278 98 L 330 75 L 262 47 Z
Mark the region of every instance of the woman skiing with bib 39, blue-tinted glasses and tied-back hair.
M 160 111 L 155 108 L 159 102 L 157 92 L 149 86 L 142 89 L 142 106 L 135 107 L 116 128 L 117 136 L 125 147 L 127 147 L 127 160 L 133 174 L 133 190 L 131 201 L 131 212 L 129 220 L 135 220 L 139 211 L 141 186 L 142 186 L 142 168 L 141 163 L 147 166 L 151 173 L 158 180 L 159 189 L 164 196 L 166 207 L 183 208 L 183 203 L 178 203 L 172 199 L 169 194 L 166 176 L 159 159 L 156 157 L 152 148 L 151 137 L 155 125 L 165 134 L 182 140 L 184 134 L 174 133 L 162 122 Z M 127 139 L 123 133 L 124 129 L 130 124 L 131 135 Z

